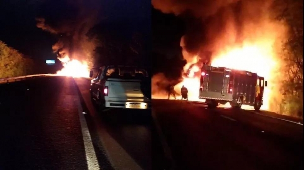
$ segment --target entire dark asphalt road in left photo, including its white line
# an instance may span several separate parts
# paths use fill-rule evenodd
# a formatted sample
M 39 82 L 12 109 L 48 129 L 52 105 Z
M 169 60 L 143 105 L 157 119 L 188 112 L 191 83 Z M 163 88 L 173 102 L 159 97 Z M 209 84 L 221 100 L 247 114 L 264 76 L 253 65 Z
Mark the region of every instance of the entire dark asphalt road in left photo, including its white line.
M 1 84 L 0 169 L 162 168 L 149 112 L 99 114 L 89 85 L 57 76 Z

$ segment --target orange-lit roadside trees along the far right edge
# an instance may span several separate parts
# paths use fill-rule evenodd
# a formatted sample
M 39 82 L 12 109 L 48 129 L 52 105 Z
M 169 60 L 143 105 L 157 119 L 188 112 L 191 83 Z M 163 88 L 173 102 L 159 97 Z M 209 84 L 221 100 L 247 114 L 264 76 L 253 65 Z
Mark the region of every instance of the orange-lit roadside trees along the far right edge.
M 276 0 L 275 17 L 285 22 L 288 38 L 283 42 L 281 56 L 285 81 L 282 82 L 281 114 L 303 118 L 303 1 Z

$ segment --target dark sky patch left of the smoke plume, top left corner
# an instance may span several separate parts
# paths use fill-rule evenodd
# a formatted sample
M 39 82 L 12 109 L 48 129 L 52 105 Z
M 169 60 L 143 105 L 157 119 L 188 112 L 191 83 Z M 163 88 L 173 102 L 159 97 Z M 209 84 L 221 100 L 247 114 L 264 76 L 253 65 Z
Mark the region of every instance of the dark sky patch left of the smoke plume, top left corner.
M 39 8 L 39 3 L 0 1 L 0 40 L 34 59 L 55 59 L 55 37 L 36 27 Z

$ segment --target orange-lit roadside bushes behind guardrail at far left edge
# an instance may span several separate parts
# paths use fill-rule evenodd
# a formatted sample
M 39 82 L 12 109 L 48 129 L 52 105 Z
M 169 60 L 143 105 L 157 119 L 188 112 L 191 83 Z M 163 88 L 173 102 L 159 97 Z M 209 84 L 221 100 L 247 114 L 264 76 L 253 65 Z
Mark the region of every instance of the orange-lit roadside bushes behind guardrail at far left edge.
M 33 66 L 32 59 L 0 41 L 0 78 L 32 74 Z

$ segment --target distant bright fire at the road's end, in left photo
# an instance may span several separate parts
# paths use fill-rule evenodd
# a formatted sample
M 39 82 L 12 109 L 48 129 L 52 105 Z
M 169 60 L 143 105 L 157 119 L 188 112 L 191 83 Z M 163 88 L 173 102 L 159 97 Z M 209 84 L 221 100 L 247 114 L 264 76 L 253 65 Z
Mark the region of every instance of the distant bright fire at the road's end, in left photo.
M 56 74 L 59 76 L 71 76 L 71 77 L 89 77 L 89 67 L 87 62 L 80 62 L 79 60 L 70 59 L 69 56 L 64 56 L 63 58 L 58 58 L 63 69 L 58 71 Z

